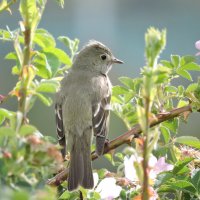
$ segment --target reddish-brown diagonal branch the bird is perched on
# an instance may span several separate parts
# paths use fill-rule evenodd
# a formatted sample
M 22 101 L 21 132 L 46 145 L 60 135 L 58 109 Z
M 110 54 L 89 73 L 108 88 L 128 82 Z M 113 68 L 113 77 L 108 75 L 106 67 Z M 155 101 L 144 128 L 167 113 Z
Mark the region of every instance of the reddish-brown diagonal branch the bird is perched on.
M 157 114 L 154 118 L 149 119 L 149 125 L 150 127 L 156 126 L 157 124 L 160 124 L 169 119 L 179 117 L 181 114 L 185 112 L 192 112 L 192 106 L 188 105 L 181 108 L 176 108 L 174 110 L 171 110 L 170 112 Z M 130 143 L 134 138 L 137 138 L 141 134 L 141 132 L 142 130 L 140 125 L 136 124 L 130 131 L 127 131 L 126 133 L 110 141 L 104 148 L 104 154 L 110 152 L 113 149 L 116 149 L 122 144 Z M 95 152 L 92 152 L 91 156 L 92 160 L 98 158 L 98 155 Z M 57 174 L 55 177 L 49 179 L 47 181 L 47 184 L 51 186 L 59 186 L 63 181 L 67 179 L 67 175 L 68 175 L 68 170 L 65 169 L 61 171 L 59 174 Z

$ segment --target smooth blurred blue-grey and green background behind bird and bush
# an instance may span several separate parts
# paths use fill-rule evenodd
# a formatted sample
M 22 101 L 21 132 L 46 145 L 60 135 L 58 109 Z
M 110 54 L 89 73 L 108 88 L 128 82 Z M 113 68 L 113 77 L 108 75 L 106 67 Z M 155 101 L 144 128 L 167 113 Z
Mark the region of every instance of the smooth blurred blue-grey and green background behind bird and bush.
M 18 28 L 21 20 L 18 4 L 8 12 L 0 14 L 0 28 Z M 199 0 L 66 0 L 61 9 L 55 0 L 49 0 L 40 28 L 47 29 L 54 37 L 61 35 L 79 38 L 80 47 L 90 39 L 105 43 L 113 50 L 124 65 L 113 66 L 110 77 L 113 85 L 120 76 L 138 77 L 145 64 L 144 34 L 150 26 L 167 29 L 167 46 L 162 59 L 171 54 L 195 55 L 194 43 L 200 39 Z M 65 49 L 61 43 L 58 46 Z M 11 75 L 13 62 L 4 56 L 13 50 L 12 43 L 0 43 L 0 94 L 6 95 L 16 83 Z M 66 49 L 65 49 L 66 50 Z M 194 81 L 200 74 L 194 74 Z M 176 84 L 187 86 L 189 81 L 179 79 Z M 9 100 L 2 106 L 16 110 L 16 101 Z M 29 113 L 30 121 L 45 135 L 55 136 L 54 108 L 45 107 L 37 101 Z M 188 123 L 181 123 L 179 134 L 199 137 L 200 115 L 192 114 Z M 126 131 L 116 116 L 111 116 L 110 136 L 112 139 Z

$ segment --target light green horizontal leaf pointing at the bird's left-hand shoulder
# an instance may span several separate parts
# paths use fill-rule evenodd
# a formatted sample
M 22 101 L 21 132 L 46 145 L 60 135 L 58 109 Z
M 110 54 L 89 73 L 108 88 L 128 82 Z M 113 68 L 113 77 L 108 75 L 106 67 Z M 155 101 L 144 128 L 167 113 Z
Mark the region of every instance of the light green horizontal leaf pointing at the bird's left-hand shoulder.
M 55 93 L 58 90 L 59 82 L 56 80 L 42 80 L 36 91 L 37 92 L 47 92 L 47 93 Z

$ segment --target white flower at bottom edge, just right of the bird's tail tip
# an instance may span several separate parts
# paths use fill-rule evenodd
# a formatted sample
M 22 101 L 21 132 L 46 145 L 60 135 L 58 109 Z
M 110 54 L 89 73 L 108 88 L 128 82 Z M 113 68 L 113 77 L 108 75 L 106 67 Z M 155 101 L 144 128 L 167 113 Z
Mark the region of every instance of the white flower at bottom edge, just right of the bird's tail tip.
M 96 188 L 96 192 L 101 195 L 101 199 L 111 200 L 119 197 L 122 188 L 116 185 L 116 180 L 112 177 L 104 178 Z

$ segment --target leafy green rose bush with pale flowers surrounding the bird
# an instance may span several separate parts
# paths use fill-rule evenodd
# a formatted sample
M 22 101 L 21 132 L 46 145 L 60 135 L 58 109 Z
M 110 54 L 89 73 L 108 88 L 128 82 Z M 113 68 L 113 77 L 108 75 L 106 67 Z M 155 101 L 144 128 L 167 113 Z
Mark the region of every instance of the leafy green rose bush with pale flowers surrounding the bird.
M 63 6 L 64 1 L 57 0 Z M 0 12 L 10 10 L 16 1 L 4 0 Z M 112 107 L 131 129 L 138 122 L 142 135 L 123 152 L 106 154 L 117 167 L 116 173 L 107 169 L 95 170 L 95 188 L 69 193 L 66 182 L 58 191 L 45 184 L 63 164 L 59 147 L 53 138 L 43 136 L 31 125 L 27 114 L 38 99 L 50 106 L 49 94 L 59 88 L 63 74 L 71 67 L 78 50 L 78 39 L 66 36 L 56 40 L 47 30 L 39 29 L 46 0 L 21 0 L 20 27 L 11 31 L 0 29 L 0 39 L 12 42 L 13 52 L 6 59 L 15 61 L 12 74 L 18 82 L 7 95 L 0 95 L 1 103 L 16 100 L 17 111 L 0 108 L 0 195 L 4 199 L 198 199 L 200 198 L 200 141 L 191 136 L 178 136 L 180 120 L 187 120 L 190 112 L 162 122 L 155 128 L 149 120 L 156 114 L 191 105 L 200 110 L 200 80 L 193 82 L 190 71 L 200 71 L 194 56 L 172 55 L 160 60 L 166 44 L 166 30 L 149 28 L 145 35 L 146 66 L 141 77 L 121 77 L 121 85 L 113 87 Z M 56 46 L 62 42 L 70 55 Z M 191 82 L 186 88 L 175 86 L 174 79 Z M 152 164 L 153 163 L 153 164 Z

